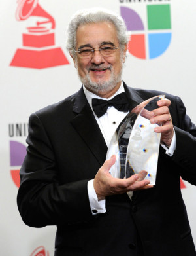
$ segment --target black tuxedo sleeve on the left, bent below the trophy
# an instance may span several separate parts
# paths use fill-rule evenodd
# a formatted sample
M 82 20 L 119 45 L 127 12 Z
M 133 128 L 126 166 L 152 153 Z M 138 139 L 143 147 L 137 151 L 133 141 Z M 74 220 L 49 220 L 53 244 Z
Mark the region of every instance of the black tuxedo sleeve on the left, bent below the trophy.
M 17 197 L 24 223 L 44 227 L 90 221 L 88 179 L 61 184 L 52 143 L 36 114 L 29 119 L 27 144 Z

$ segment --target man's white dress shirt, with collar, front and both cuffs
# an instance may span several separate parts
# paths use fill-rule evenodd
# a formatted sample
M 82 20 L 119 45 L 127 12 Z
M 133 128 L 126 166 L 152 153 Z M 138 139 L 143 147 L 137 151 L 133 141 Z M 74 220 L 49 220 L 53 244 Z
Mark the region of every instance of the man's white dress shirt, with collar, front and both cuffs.
M 93 108 L 92 108 L 92 99 L 93 98 L 98 98 L 98 99 L 103 99 L 103 100 L 111 100 L 116 95 L 118 95 L 122 92 L 125 92 L 123 83 L 121 84 L 118 91 L 114 95 L 112 95 L 112 97 L 110 97 L 110 98 L 101 98 L 101 97 L 97 96 L 96 94 L 93 94 L 92 92 L 88 91 L 84 86 L 83 86 L 83 90 L 84 90 L 84 94 L 86 95 L 86 99 L 88 100 L 88 103 L 90 104 L 92 111 L 93 111 Z M 122 112 L 122 111 L 118 111 L 117 109 L 115 109 L 115 107 L 108 107 L 106 113 L 99 118 L 99 117 L 97 117 L 97 115 L 95 115 L 95 112 L 93 111 L 93 114 L 95 116 L 97 124 L 99 125 L 101 133 L 103 134 L 103 137 L 105 139 L 107 146 L 109 146 L 112 136 L 113 136 L 114 132 L 116 131 L 116 128 L 118 128 L 118 125 L 120 124 L 120 122 L 122 122 L 122 120 L 126 117 L 126 115 L 128 113 L 129 113 L 129 111 Z M 171 143 L 171 146 L 169 147 L 169 149 L 163 144 L 161 144 L 161 146 L 165 149 L 165 153 L 167 155 L 172 156 L 174 153 L 174 150 L 176 148 L 175 134 L 173 136 L 172 143 Z M 97 194 L 93 187 L 93 179 L 88 181 L 88 196 L 89 196 L 89 200 L 90 200 L 91 212 L 93 215 L 106 212 L 105 199 L 98 201 Z

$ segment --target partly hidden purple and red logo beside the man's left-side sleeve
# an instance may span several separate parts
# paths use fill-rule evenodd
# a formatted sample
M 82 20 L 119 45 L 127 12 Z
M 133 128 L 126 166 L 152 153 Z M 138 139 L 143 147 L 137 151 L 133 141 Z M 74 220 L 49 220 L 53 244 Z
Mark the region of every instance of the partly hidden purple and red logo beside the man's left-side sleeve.
M 26 155 L 26 147 L 18 141 L 10 141 L 10 167 L 11 176 L 17 187 L 20 186 L 20 167 Z

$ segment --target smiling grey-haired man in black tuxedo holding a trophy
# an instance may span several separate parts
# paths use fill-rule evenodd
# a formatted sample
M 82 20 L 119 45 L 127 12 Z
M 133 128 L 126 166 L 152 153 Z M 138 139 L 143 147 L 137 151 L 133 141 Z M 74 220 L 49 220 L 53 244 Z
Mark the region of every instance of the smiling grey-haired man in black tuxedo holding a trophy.
M 154 129 L 161 133 L 156 185 L 144 180 L 145 170 L 128 179 L 109 174 L 116 161 L 105 161 L 112 134 L 131 109 L 162 94 L 122 82 L 126 45 L 122 18 L 103 10 L 77 13 L 67 49 L 83 86 L 29 119 L 18 208 L 31 227 L 57 225 L 56 256 L 196 255 L 180 192 L 180 176 L 196 184 L 196 128 L 180 98 L 165 94 L 150 113 L 152 124 L 163 124 Z M 92 98 L 117 95 L 125 96 L 123 111 L 109 103 L 106 113 L 95 114 Z

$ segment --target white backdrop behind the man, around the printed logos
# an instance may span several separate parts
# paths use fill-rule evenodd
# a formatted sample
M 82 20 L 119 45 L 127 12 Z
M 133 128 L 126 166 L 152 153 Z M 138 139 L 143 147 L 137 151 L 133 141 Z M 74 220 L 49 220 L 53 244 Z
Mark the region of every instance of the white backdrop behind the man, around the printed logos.
M 31 256 L 39 246 L 45 247 L 45 255 L 54 254 L 55 227 L 33 229 L 22 223 L 16 206 L 18 187 L 12 181 L 10 170 L 20 166 L 10 166 L 10 141 L 25 145 L 25 132 L 11 137 L 8 125 L 26 124 L 29 115 L 46 105 L 63 100 L 81 86 L 73 62 L 65 50 L 67 24 L 76 10 L 88 7 L 105 7 L 120 14 L 120 7 L 135 10 L 146 24 L 146 5 L 168 4 L 171 7 L 171 44 L 159 57 L 150 60 L 135 58 L 127 53 L 123 80 L 136 88 L 156 89 L 178 95 L 184 101 L 188 115 L 196 122 L 195 114 L 195 0 L 171 1 L 119 1 L 119 0 L 40 0 L 39 4 L 56 21 L 55 45 L 61 47 L 69 60 L 69 65 L 59 65 L 45 69 L 10 67 L 17 48 L 22 46 L 22 33 L 26 27 L 34 26 L 37 17 L 24 21 L 15 18 L 16 1 L 1 1 L 1 255 Z M 147 29 L 144 33 L 147 33 Z M 49 47 L 50 48 L 50 47 Z M 191 150 L 191 149 L 189 149 Z M 189 221 L 196 242 L 196 188 L 184 182 L 182 194 L 188 209 Z M 48 256 L 47 255 L 47 256 Z

